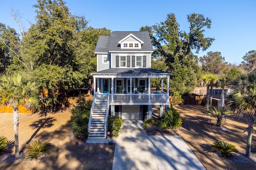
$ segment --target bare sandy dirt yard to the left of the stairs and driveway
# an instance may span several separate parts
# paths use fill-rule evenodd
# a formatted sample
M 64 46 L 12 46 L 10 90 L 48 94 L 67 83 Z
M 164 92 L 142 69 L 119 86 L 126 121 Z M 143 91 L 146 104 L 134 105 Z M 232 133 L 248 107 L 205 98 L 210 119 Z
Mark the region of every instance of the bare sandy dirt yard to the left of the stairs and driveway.
M 12 113 L 0 113 L 0 135 L 10 140 L 10 153 L 0 156 L 0 169 L 112 169 L 115 145 L 88 144 L 74 139 L 70 129 L 70 109 L 54 114 L 20 113 L 18 158 L 14 157 Z M 40 159 L 29 160 L 23 150 L 30 141 L 45 140 L 54 144 L 53 152 Z

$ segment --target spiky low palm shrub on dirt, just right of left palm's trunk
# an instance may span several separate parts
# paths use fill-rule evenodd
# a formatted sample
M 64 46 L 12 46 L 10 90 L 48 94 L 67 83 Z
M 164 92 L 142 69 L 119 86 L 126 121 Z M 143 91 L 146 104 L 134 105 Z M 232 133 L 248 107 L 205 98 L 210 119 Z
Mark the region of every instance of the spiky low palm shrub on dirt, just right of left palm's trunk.
M 33 141 L 26 145 L 24 152 L 27 154 L 27 157 L 32 159 L 38 159 L 38 157 L 50 154 L 52 152 L 54 145 L 45 141 Z

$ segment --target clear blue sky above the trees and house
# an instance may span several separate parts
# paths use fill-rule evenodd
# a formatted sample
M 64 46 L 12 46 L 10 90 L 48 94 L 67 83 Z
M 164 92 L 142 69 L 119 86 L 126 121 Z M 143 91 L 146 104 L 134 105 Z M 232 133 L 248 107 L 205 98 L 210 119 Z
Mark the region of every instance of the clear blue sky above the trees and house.
M 25 29 L 33 19 L 36 0 L 1 0 L 0 22 L 19 31 L 10 8 L 18 10 Z M 64 0 L 65 1 L 65 0 Z M 188 31 L 186 16 L 203 14 L 212 20 L 211 29 L 205 29 L 206 37 L 214 37 L 212 46 L 198 54 L 219 51 L 231 64 L 240 64 L 250 50 L 256 50 L 256 1 L 255 0 L 66 0 L 72 14 L 86 16 L 89 25 L 106 27 L 111 31 L 139 31 L 165 21 L 168 13 L 174 13 L 180 29 Z

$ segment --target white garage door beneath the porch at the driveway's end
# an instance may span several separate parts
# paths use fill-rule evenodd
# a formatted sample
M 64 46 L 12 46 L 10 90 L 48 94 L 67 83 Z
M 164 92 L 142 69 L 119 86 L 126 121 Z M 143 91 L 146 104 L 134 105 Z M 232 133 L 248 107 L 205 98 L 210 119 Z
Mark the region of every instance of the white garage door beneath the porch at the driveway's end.
M 140 106 L 122 106 L 122 119 L 140 119 Z

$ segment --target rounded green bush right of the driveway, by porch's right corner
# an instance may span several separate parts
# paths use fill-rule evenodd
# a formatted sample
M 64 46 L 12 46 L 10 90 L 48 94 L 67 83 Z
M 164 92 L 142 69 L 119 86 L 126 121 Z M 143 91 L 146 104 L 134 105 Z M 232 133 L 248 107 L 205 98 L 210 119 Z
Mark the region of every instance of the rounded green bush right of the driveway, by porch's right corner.
M 182 118 L 180 113 L 171 107 L 161 116 L 162 129 L 176 129 L 182 126 Z

